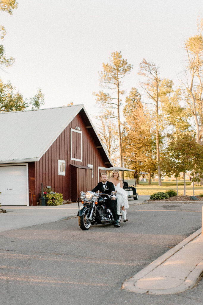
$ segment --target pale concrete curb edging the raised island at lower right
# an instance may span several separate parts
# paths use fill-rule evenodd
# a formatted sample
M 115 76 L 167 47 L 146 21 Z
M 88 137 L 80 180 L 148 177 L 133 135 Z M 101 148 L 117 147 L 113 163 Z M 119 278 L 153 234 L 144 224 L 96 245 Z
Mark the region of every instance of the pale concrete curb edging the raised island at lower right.
M 201 228 L 194 232 L 192 235 L 184 239 L 182 242 L 180 242 L 177 246 L 175 246 L 173 249 L 170 249 L 166 253 L 164 253 L 162 256 L 154 260 L 151 264 L 149 264 L 147 267 L 139 271 L 137 274 L 135 274 L 132 278 L 125 281 L 122 288 L 127 289 L 131 292 L 136 293 L 149 293 L 149 294 L 174 294 L 179 292 L 184 292 L 187 289 L 190 289 L 194 287 L 194 285 L 198 282 L 199 278 L 201 277 L 201 274 L 203 273 L 203 259 L 188 273 L 186 278 L 180 279 L 180 278 L 172 278 L 170 276 L 163 277 L 162 275 L 159 276 L 159 281 L 166 280 L 167 278 L 167 289 L 142 289 L 139 287 L 135 287 L 135 284 L 138 282 L 138 280 L 142 281 L 142 278 L 144 278 L 149 272 L 154 271 L 157 267 L 159 267 L 161 264 L 166 262 L 170 257 L 172 257 L 175 253 L 180 251 L 184 246 L 192 242 L 194 239 L 198 238 L 201 234 Z M 200 235 L 201 236 L 201 235 Z M 156 273 L 157 274 L 157 273 Z M 143 279 L 144 280 L 144 279 Z M 184 281 L 184 282 L 183 282 Z M 175 283 L 175 284 L 174 284 Z M 159 283 L 160 284 L 160 283 Z M 172 285 L 171 285 L 172 284 Z M 170 287 L 171 285 L 171 287 Z M 175 287 L 174 287 L 175 285 Z M 159 287 L 160 285 L 158 285 Z M 156 287 L 156 283 L 155 283 Z

